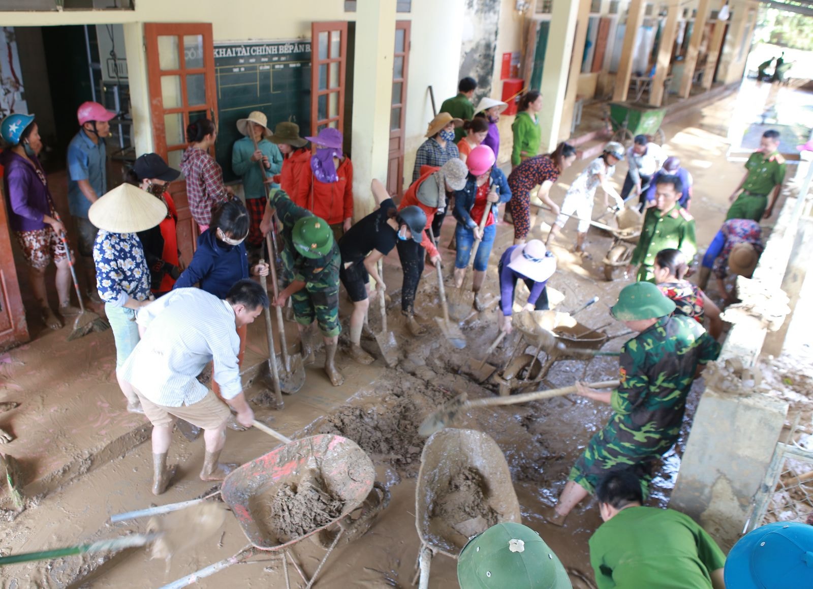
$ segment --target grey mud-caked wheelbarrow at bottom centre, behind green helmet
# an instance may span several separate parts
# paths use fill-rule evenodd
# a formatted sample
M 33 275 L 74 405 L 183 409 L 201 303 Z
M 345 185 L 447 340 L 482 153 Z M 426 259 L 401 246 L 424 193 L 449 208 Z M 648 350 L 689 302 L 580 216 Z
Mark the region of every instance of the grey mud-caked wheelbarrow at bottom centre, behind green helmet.
M 460 514 L 462 521 L 450 521 L 441 507 L 456 487 L 461 474 L 467 484 L 482 492 L 480 513 Z M 520 502 L 511 483 L 511 471 L 497 443 L 476 430 L 447 428 L 433 434 L 420 456 L 418 486 L 415 489 L 415 526 L 420 538 L 418 552 L 419 589 L 426 589 L 429 568 L 435 554 L 457 560 L 468 540 L 502 521 L 520 523 Z M 415 584 L 415 581 L 412 582 Z

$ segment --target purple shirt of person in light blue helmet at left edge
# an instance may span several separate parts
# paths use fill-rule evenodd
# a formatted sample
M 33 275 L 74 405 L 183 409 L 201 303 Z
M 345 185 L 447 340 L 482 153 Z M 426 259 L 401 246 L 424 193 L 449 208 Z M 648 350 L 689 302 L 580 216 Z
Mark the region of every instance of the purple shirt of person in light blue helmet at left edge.
M 51 213 L 45 172 L 39 159 L 34 155 L 30 157 L 32 161 L 11 150 L 0 154 L 0 165 L 5 168 L 3 190 L 8 203 L 8 220 L 13 231 L 44 229 L 46 223 L 42 216 Z

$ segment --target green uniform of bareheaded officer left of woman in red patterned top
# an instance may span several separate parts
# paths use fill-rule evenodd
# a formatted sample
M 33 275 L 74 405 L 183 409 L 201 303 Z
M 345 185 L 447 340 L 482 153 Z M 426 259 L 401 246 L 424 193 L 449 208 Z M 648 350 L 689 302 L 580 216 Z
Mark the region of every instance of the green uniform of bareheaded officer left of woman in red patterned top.
M 654 281 L 655 256 L 669 248 L 682 251 L 687 260 L 692 260 L 698 252 L 694 241 L 694 217 L 679 204 L 667 212 L 661 212 L 657 207 L 646 209 L 641 238 L 629 262 L 636 266 L 641 264 L 639 281 Z

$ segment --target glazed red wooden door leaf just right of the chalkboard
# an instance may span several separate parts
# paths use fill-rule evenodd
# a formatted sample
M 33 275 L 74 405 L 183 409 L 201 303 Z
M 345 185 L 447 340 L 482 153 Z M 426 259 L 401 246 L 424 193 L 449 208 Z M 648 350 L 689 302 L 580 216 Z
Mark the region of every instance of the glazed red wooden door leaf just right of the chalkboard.
M 311 135 L 333 127 L 344 133 L 347 23 L 311 23 Z

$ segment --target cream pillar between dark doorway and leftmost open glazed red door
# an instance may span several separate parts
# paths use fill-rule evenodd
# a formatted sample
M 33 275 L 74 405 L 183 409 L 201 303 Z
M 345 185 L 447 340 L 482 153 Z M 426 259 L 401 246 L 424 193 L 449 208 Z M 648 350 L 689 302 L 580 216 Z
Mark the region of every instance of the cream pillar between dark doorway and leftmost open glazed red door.
M 127 55 L 130 85 L 130 112 L 133 115 L 133 146 L 136 154 L 154 150 L 152 113 L 150 112 L 150 84 L 147 80 L 147 57 L 144 49 L 144 24 L 124 24 L 124 51 Z

